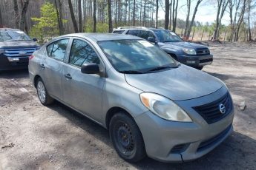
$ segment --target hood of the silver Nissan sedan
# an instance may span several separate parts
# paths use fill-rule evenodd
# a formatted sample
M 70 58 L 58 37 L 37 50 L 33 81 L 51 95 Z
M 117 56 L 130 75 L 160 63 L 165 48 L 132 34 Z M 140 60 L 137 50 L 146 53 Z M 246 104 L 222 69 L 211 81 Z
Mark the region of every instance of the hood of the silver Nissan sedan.
M 199 98 L 223 86 L 217 78 L 183 64 L 163 72 L 125 74 L 125 79 L 137 89 L 163 95 L 172 101 Z

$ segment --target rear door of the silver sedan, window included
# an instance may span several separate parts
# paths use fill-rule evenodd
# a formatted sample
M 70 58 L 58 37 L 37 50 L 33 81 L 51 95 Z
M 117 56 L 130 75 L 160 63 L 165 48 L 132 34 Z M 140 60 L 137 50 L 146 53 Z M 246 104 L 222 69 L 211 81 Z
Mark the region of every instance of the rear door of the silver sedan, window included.
M 40 63 L 42 80 L 47 92 L 62 100 L 62 67 L 69 38 L 54 41 L 46 47 L 47 56 Z

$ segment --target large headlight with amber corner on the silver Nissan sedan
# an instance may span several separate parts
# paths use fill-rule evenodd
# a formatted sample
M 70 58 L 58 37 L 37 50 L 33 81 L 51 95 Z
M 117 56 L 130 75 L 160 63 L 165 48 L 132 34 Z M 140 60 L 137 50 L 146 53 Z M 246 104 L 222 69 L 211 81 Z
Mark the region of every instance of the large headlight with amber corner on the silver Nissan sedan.
M 151 92 L 140 94 L 140 100 L 151 112 L 160 118 L 180 122 L 192 122 L 191 118 L 176 103 L 162 95 Z

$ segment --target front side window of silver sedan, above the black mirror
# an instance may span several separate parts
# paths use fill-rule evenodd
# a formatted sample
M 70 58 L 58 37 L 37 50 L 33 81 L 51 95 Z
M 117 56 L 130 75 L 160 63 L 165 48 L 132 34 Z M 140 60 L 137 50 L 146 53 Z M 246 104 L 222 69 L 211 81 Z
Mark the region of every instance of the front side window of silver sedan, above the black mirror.
M 99 58 L 87 42 L 74 39 L 70 51 L 69 63 L 81 67 L 84 63 L 99 64 Z

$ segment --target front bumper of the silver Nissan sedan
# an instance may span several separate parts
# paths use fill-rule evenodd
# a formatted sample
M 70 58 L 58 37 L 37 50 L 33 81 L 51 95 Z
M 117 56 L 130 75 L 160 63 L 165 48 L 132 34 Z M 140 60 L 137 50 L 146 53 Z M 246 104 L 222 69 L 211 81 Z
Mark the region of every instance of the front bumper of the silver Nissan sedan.
M 192 123 L 163 120 L 149 111 L 134 118 L 142 132 L 148 157 L 162 162 L 184 162 L 202 157 L 222 143 L 232 133 L 234 109 L 222 120 L 208 124 L 191 106 L 217 100 L 225 92 L 226 88 L 221 88 L 202 98 L 177 101 L 189 113 Z M 183 146 L 180 152 L 173 152 L 180 146 Z

